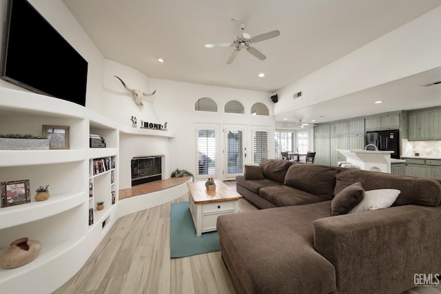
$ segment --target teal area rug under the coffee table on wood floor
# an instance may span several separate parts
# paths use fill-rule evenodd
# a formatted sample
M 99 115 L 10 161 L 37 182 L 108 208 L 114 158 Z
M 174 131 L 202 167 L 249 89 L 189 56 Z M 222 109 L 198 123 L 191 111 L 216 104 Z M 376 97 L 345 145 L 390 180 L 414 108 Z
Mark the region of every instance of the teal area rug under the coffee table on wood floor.
M 218 232 L 196 236 L 188 202 L 172 203 L 170 213 L 170 258 L 219 251 Z

